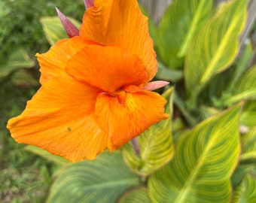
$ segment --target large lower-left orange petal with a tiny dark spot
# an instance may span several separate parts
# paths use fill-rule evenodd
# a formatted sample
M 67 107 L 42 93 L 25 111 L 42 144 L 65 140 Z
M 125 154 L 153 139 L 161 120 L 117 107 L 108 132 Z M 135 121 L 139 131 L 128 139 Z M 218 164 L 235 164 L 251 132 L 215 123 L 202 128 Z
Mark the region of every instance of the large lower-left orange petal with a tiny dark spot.
M 44 83 L 20 116 L 8 121 L 11 136 L 72 162 L 95 158 L 108 141 L 94 116 L 98 92 L 72 77 L 54 77 Z

